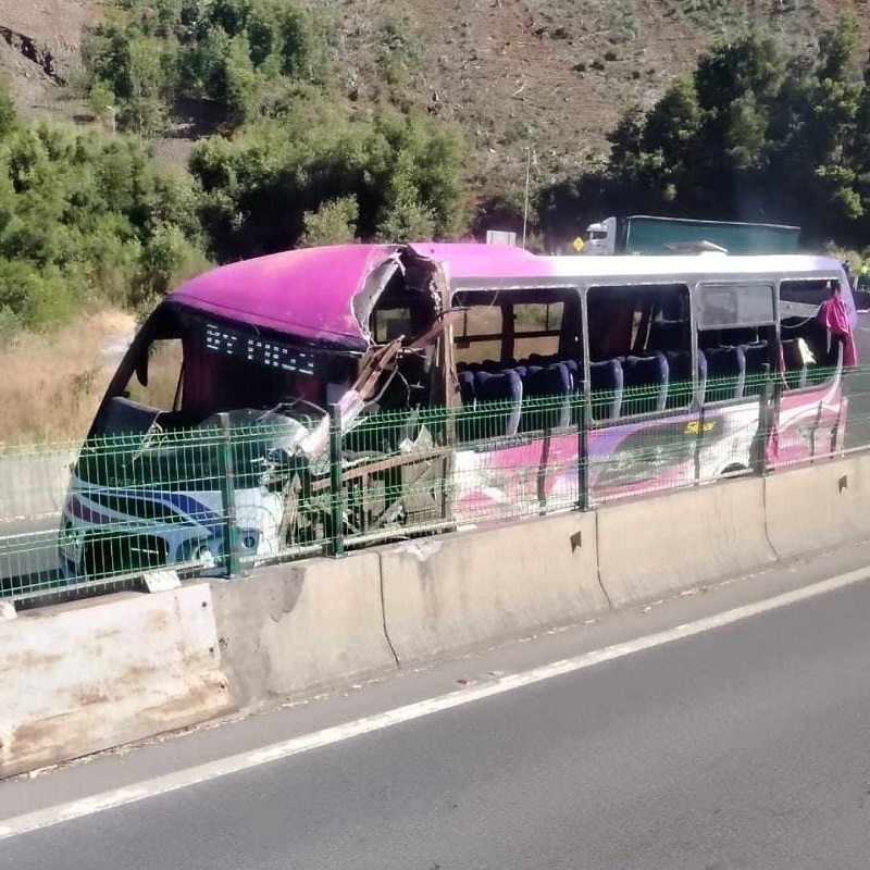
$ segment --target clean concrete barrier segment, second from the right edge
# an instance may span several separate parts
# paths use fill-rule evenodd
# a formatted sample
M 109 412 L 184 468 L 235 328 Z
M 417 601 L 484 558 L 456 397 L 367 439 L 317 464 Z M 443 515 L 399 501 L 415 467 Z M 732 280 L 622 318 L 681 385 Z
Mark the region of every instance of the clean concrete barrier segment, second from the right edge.
M 598 566 L 616 609 L 775 561 L 758 477 L 598 510 Z

